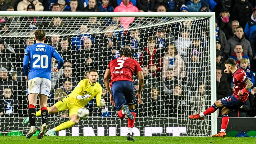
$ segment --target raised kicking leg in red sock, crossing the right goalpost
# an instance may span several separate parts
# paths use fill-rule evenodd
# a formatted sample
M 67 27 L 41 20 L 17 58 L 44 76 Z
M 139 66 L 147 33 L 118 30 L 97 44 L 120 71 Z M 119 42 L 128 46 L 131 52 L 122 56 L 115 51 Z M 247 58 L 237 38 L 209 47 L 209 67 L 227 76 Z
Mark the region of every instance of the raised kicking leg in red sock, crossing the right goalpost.
M 204 116 L 209 115 L 211 113 L 214 113 L 218 108 L 223 107 L 223 104 L 221 102 L 221 100 L 217 100 L 214 102 L 214 104 L 209 107 L 206 111 L 200 113 L 200 114 L 195 114 L 195 115 L 190 115 L 189 118 L 190 119 L 199 119 L 199 120 L 203 120 Z

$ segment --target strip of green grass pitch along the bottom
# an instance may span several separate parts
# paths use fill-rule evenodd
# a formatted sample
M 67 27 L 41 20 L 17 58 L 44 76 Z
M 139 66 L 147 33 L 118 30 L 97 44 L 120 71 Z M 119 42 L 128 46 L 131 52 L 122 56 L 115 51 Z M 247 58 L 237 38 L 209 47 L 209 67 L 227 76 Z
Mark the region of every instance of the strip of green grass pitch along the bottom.
M 84 137 L 84 136 L 45 136 L 38 140 L 36 136 L 26 139 L 25 136 L 0 136 L 2 144 L 255 144 L 253 137 L 134 137 L 135 141 L 127 141 L 123 136 Z

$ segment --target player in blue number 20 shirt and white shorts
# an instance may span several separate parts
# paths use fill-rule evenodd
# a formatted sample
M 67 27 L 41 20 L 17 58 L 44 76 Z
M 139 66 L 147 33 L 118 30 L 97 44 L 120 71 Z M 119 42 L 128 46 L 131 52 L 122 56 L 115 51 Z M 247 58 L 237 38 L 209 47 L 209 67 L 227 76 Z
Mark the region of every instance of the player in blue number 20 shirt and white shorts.
M 39 94 L 42 126 L 37 138 L 41 139 L 47 129 L 46 122 L 48 117 L 48 110 L 46 108 L 46 104 L 47 99 L 50 96 L 51 88 L 51 59 L 54 57 L 59 62 L 58 66 L 53 68 L 53 72 L 58 72 L 59 69 L 63 66 L 64 61 L 60 54 L 52 46 L 44 44 L 45 32 L 43 30 L 36 30 L 34 34 L 36 44 L 28 46 L 25 49 L 23 60 L 23 69 L 26 76 L 25 79 L 28 81 L 28 117 L 31 126 L 28 134 L 26 135 L 26 138 L 31 138 L 31 136 L 36 133 L 35 106 L 37 102 L 37 95 Z M 30 66 L 28 68 L 29 62 Z

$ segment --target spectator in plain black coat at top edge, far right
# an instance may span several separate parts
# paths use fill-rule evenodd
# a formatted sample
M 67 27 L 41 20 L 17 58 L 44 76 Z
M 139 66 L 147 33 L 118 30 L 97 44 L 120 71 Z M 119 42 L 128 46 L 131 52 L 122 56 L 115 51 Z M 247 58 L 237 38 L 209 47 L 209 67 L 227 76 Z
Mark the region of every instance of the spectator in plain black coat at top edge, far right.
M 240 26 L 243 28 L 250 19 L 252 11 L 253 6 L 248 0 L 237 0 L 233 7 L 231 18 L 232 20 L 238 20 Z

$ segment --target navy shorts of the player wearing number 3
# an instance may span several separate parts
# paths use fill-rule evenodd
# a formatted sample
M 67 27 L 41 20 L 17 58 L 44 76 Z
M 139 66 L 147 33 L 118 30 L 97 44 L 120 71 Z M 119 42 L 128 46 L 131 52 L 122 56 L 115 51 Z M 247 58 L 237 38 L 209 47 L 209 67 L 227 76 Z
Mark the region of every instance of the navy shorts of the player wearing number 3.
M 133 82 L 115 81 L 112 84 L 111 92 L 116 103 L 116 111 L 119 111 L 124 104 L 136 104 L 136 95 Z

